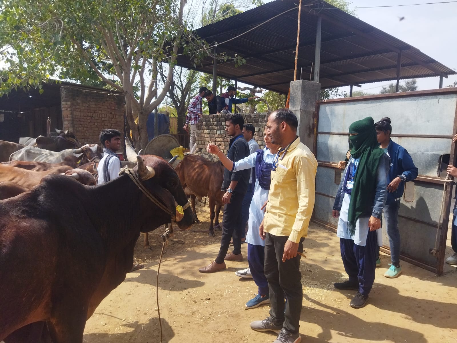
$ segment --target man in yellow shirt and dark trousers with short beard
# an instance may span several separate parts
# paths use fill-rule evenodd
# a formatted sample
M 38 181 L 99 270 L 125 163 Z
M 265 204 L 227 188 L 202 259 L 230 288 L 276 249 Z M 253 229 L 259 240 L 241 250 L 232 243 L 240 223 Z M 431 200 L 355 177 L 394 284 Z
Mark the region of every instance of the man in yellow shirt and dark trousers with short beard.
M 259 228 L 260 237 L 265 240 L 264 272 L 271 310 L 269 317 L 251 322 L 250 326 L 260 332 L 279 333 L 274 343 L 301 342 L 300 254 L 314 208 L 317 161 L 300 142 L 297 127 L 297 117 L 286 108 L 271 113 L 266 124 L 272 144 L 281 145 L 271 167 L 270 193 Z

